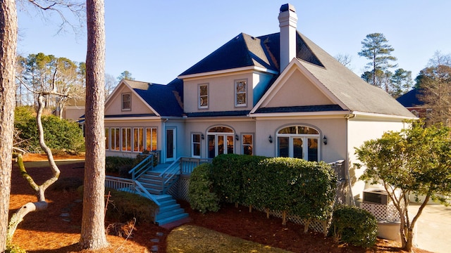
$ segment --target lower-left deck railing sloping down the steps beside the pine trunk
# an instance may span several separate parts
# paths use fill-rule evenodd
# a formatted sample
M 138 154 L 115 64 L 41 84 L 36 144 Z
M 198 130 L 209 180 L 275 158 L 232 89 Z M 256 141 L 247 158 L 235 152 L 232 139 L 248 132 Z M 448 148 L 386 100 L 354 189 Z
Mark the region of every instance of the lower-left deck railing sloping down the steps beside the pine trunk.
M 122 190 L 128 193 L 135 193 L 147 197 L 152 200 L 156 205 L 160 205 L 154 195 L 150 194 L 139 181 L 133 179 L 123 179 L 116 176 L 105 176 L 105 187 L 115 190 Z

